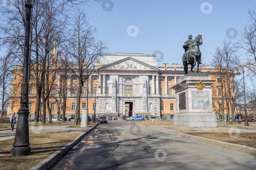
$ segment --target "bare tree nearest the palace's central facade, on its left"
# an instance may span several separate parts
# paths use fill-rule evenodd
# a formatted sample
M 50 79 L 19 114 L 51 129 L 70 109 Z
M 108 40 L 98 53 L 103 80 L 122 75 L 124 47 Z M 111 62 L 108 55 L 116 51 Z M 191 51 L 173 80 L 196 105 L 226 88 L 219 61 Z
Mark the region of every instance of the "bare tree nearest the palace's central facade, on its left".
M 103 41 L 94 37 L 96 29 L 90 26 L 86 20 L 86 15 L 80 9 L 77 10 L 71 25 L 73 27 L 73 37 L 70 41 L 69 53 L 74 58 L 74 63 L 76 64 L 72 72 L 78 78 L 74 124 L 78 124 L 81 88 L 84 82 L 83 73 L 90 65 L 97 61 L 96 59 L 104 52 L 106 46 Z

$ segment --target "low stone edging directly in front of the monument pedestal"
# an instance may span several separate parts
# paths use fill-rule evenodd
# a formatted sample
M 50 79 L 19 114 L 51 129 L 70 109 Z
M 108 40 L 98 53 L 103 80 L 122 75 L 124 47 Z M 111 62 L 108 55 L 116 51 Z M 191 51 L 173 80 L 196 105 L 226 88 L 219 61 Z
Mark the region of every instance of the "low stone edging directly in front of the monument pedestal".
M 165 128 L 175 129 L 178 131 L 229 131 L 230 128 L 224 127 L 183 127 L 174 125 L 165 125 Z

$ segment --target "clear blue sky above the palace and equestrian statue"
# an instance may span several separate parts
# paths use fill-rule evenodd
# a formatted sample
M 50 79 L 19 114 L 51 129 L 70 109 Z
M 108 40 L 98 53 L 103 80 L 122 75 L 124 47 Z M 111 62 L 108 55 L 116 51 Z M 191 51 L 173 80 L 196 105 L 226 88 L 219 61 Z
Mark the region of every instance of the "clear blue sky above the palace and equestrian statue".
M 102 4 L 103 3 L 103 4 Z M 239 40 L 247 24 L 248 9 L 255 0 L 104 0 L 82 6 L 89 23 L 97 27 L 97 37 L 106 42 L 109 53 L 144 53 L 155 51 L 158 65 L 182 66 L 182 45 L 192 34 L 202 35 L 203 64 L 210 64 L 211 53 L 225 38 Z M 128 29 L 128 30 L 127 30 Z M 227 30 L 233 30 L 228 33 Z M 235 34 L 234 34 L 235 33 Z

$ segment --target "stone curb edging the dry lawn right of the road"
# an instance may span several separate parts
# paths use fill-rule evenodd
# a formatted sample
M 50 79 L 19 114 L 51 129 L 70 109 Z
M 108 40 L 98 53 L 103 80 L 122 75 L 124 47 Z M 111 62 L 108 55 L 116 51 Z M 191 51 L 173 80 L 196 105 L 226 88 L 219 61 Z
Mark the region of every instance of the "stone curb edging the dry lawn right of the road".
M 181 137 L 185 137 L 187 139 L 193 139 L 193 140 L 196 140 L 196 141 L 200 141 L 200 142 L 208 143 L 208 144 L 211 144 L 211 145 L 219 146 L 219 147 L 222 147 L 222 148 L 227 148 L 227 149 L 230 149 L 230 150 L 235 150 L 235 151 L 239 151 L 239 152 L 243 152 L 243 153 L 246 153 L 246 154 L 256 156 L 256 148 L 253 148 L 253 147 L 234 144 L 234 143 L 228 143 L 228 142 L 222 142 L 222 141 L 218 141 L 218 140 L 215 140 L 215 139 L 209 139 L 209 138 L 206 138 L 206 137 L 198 137 L 198 136 L 188 135 L 186 133 L 181 133 L 181 132 L 177 132 L 177 135 L 179 135 Z

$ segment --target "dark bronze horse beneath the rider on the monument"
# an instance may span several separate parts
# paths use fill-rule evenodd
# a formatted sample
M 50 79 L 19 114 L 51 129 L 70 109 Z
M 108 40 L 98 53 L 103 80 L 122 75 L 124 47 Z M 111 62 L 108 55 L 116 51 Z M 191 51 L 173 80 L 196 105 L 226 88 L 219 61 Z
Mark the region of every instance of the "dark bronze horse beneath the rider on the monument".
M 197 73 L 199 72 L 199 64 L 201 63 L 201 52 L 199 50 L 199 45 L 202 45 L 203 41 L 202 41 L 202 35 L 198 35 L 194 42 L 192 43 L 192 46 L 190 49 L 188 49 L 182 57 L 182 62 L 183 62 L 183 66 L 184 66 L 184 75 L 186 75 L 188 72 L 188 65 L 191 65 L 191 69 L 190 71 L 193 71 L 194 66 L 196 65 L 197 62 Z M 188 58 L 188 63 L 187 63 L 187 58 Z

